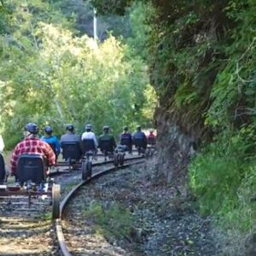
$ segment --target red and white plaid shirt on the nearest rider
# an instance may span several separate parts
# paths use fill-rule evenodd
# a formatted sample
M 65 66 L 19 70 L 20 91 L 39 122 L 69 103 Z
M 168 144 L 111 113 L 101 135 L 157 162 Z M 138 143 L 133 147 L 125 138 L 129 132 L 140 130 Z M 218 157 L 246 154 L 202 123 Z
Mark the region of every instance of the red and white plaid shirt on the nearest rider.
M 15 151 L 11 159 L 11 174 L 15 174 L 20 154 L 40 154 L 48 160 L 49 166 L 55 165 L 55 153 L 48 143 L 42 142 L 37 137 L 26 138 L 15 147 Z

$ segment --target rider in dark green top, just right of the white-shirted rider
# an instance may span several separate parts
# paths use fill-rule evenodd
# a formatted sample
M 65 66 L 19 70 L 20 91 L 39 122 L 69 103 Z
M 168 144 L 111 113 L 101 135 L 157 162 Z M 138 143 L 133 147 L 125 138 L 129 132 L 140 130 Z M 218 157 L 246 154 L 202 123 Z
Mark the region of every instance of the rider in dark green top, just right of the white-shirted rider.
M 116 143 L 114 140 L 113 135 L 109 134 L 109 126 L 104 125 L 103 126 L 103 133 L 99 137 L 99 145 L 98 147 L 101 149 L 102 154 L 105 156 L 113 155 L 114 148 L 116 148 Z

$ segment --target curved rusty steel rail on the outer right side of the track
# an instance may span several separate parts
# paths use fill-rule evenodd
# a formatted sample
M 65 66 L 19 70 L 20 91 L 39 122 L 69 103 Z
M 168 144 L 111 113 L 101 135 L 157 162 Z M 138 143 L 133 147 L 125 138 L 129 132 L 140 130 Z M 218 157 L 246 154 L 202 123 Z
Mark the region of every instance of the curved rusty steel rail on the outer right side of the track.
M 61 201 L 60 218 L 55 220 L 55 230 L 56 230 L 56 233 L 57 233 L 57 239 L 58 239 L 59 247 L 60 247 L 60 250 L 61 250 L 61 252 L 60 252 L 61 255 L 63 255 L 63 256 L 72 256 L 72 254 L 69 253 L 69 251 L 68 251 L 67 243 L 65 241 L 65 238 L 64 238 L 64 235 L 63 235 L 62 226 L 61 226 L 62 215 L 63 215 L 63 212 L 65 210 L 65 207 L 67 207 L 68 201 L 70 201 L 73 198 L 73 196 L 78 192 L 78 190 L 81 187 L 83 187 L 87 183 L 90 183 L 92 180 L 95 180 L 95 179 L 97 179 L 99 177 L 102 177 L 103 175 L 106 175 L 109 172 L 113 172 L 113 171 L 116 171 L 116 170 L 119 170 L 119 169 L 125 169 L 125 168 L 127 168 L 129 166 L 137 165 L 137 164 L 140 164 L 140 163 L 144 162 L 144 160 L 138 160 L 138 159 L 143 159 L 143 157 L 140 156 L 140 157 L 126 159 L 126 161 L 127 160 L 137 160 L 137 161 L 133 162 L 133 163 L 127 163 L 124 166 L 110 167 L 110 168 L 108 168 L 106 170 L 103 170 L 101 172 L 96 172 L 90 178 L 88 178 L 85 181 L 80 182 L 72 190 L 69 191 L 69 193 L 63 199 L 63 201 Z M 106 164 L 106 162 L 105 162 L 105 164 Z

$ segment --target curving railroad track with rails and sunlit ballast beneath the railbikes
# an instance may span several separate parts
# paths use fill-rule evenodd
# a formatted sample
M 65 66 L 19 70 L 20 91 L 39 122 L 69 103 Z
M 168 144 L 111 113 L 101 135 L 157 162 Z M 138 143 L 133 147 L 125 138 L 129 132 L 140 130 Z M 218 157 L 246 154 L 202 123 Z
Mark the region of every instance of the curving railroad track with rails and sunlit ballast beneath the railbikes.
M 132 158 L 125 159 L 125 162 L 142 161 L 140 159 L 142 159 L 142 157 L 132 156 Z M 75 191 L 78 190 L 79 187 L 83 186 L 86 183 L 90 183 L 91 180 L 94 180 L 97 177 L 101 177 L 102 175 L 107 174 L 108 172 L 112 172 L 113 170 L 118 170 L 120 168 L 126 168 L 127 166 L 131 166 L 131 164 L 125 164 L 124 166 L 120 166 L 120 167 L 113 167 L 112 160 L 100 161 L 100 162 L 93 163 L 93 170 L 96 172 L 96 169 L 100 170 L 101 166 L 105 167 L 104 171 L 97 172 L 96 174 L 92 175 L 92 177 L 88 179 L 86 182 L 81 182 L 81 183 L 79 183 L 79 181 L 81 181 L 82 175 L 81 175 L 81 172 L 79 171 L 63 172 L 63 170 L 61 170 L 60 172 L 55 172 L 51 174 L 51 176 L 55 176 L 56 180 L 59 179 L 61 182 L 63 182 L 67 176 L 69 177 L 75 176 L 75 179 L 74 179 L 75 183 L 79 183 L 69 193 L 67 192 L 69 191 L 68 187 L 70 188 L 70 186 L 67 186 L 65 191 L 65 193 L 67 193 L 67 196 L 63 198 L 63 201 L 61 203 L 61 217 L 62 217 L 62 212 L 64 211 L 65 207 L 68 204 L 69 199 L 73 197 L 73 195 L 75 194 Z M 63 166 L 61 167 L 61 169 L 63 169 Z M 65 189 L 61 189 L 61 191 L 64 191 L 64 190 Z M 41 241 L 41 247 L 45 247 L 45 245 L 47 244 L 46 243 L 44 245 L 44 241 L 42 241 L 42 239 L 43 240 L 45 239 L 46 241 L 51 240 L 49 252 L 50 254 L 52 252 L 57 253 L 58 247 L 55 244 L 56 234 L 57 234 L 59 243 L 61 242 L 59 245 L 59 247 L 61 248 L 61 251 L 63 251 L 64 253 L 65 252 L 68 253 L 67 249 L 65 251 L 65 247 L 67 248 L 67 246 L 63 238 L 63 234 L 61 233 L 61 218 L 57 219 L 56 227 L 54 227 L 53 224 L 50 223 L 49 217 L 48 218 L 46 217 L 45 221 L 40 220 L 40 217 L 44 216 L 44 212 L 46 212 L 46 215 L 47 215 L 47 212 L 49 212 L 50 201 L 46 202 L 46 200 L 44 201 L 36 200 L 30 206 L 28 206 L 27 199 L 20 197 L 15 200 L 12 199 L 11 203 L 9 202 L 6 204 L 5 202 L 6 206 L 4 210 L 3 210 L 3 204 L 4 204 L 4 200 L 0 199 L 0 255 L 15 255 L 13 253 L 7 253 L 10 250 L 9 241 L 12 241 L 11 244 L 13 248 L 11 249 L 11 251 L 14 253 L 15 253 L 14 249 L 17 250 L 16 253 L 18 253 L 18 250 L 20 250 L 19 251 L 20 253 L 24 253 L 24 254 L 28 253 L 30 250 L 32 251 L 34 250 L 34 252 L 36 252 L 37 249 L 39 249 L 40 247 L 36 248 L 36 244 L 33 245 L 32 241 L 33 240 L 36 241 L 37 239 L 38 241 Z M 52 230 L 56 230 L 56 234 Z M 35 234 L 36 238 L 32 238 L 34 236 L 33 233 Z M 42 233 L 44 233 L 44 236 L 42 236 L 43 235 Z M 17 243 L 13 236 L 17 238 Z M 2 237 L 2 241 L 1 241 L 1 237 Z M 20 242 L 20 237 L 22 237 L 22 242 L 24 242 L 25 245 L 22 245 L 22 242 Z M 45 250 L 45 254 L 39 253 L 38 255 L 49 255 L 49 254 L 47 254 Z M 63 255 L 71 255 L 71 254 L 63 254 Z

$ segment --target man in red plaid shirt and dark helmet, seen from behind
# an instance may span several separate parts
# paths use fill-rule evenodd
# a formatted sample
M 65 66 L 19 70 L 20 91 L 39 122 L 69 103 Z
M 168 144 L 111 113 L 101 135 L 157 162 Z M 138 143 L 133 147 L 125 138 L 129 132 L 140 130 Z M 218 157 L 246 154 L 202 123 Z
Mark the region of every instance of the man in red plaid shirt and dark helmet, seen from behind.
M 11 175 L 15 176 L 17 161 L 20 154 L 40 154 L 46 160 L 48 165 L 55 165 L 55 153 L 48 143 L 44 143 L 38 137 L 38 125 L 29 123 L 25 127 L 25 139 L 15 147 L 11 158 Z

